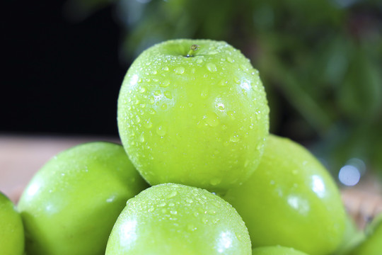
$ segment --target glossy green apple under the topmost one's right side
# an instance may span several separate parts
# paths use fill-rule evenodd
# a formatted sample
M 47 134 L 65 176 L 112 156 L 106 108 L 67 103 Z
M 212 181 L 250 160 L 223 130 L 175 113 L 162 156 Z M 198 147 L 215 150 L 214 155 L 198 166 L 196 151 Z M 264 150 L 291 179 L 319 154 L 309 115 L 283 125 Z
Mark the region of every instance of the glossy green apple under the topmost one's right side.
M 287 138 L 270 135 L 256 171 L 224 198 L 243 217 L 253 247 L 282 245 L 324 255 L 342 241 L 346 215 L 335 181 Z

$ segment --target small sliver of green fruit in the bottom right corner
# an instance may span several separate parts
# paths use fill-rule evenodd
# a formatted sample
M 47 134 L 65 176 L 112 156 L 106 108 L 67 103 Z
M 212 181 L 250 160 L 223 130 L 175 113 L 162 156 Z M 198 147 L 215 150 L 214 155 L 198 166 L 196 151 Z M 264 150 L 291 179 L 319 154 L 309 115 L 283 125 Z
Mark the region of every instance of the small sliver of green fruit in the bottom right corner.
M 349 255 L 381 255 L 382 254 L 382 213 L 371 222 L 366 229 L 366 239 Z

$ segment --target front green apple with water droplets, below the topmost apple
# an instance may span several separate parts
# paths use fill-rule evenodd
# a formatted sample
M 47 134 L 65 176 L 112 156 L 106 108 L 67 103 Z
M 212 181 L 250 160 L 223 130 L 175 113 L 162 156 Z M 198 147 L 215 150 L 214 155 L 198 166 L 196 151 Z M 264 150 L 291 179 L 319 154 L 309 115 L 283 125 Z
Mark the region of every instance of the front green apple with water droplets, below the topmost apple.
M 112 229 L 106 255 L 251 254 L 236 210 L 219 196 L 164 183 L 127 202 Z

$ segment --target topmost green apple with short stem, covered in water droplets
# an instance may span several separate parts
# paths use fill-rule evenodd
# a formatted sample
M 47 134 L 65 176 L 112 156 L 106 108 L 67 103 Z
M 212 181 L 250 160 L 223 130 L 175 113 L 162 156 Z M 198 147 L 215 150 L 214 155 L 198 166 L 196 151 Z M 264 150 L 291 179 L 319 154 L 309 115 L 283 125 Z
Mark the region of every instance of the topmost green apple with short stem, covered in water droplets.
M 193 57 L 185 57 L 191 45 Z M 170 40 L 129 68 L 117 108 L 127 154 L 155 185 L 226 190 L 259 163 L 269 108 L 257 70 L 226 42 Z

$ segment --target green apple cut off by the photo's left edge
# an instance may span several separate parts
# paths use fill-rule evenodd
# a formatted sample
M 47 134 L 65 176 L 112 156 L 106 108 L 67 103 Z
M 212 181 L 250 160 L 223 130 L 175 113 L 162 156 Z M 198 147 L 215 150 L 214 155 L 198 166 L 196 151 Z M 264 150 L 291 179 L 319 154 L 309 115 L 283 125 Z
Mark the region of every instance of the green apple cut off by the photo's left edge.
M 24 253 L 24 228 L 21 216 L 7 196 L 0 192 L 0 254 Z

